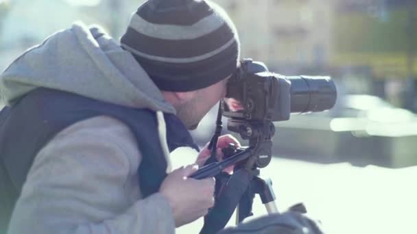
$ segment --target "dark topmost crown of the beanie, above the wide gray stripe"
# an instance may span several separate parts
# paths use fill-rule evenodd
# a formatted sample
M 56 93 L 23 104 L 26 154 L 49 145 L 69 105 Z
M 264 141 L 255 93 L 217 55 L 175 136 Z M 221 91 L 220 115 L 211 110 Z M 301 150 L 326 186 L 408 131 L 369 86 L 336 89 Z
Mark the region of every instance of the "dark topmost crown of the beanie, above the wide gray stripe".
M 148 1 L 136 12 L 145 21 L 161 25 L 193 25 L 212 13 L 205 1 L 189 1 L 184 5 L 172 0 Z

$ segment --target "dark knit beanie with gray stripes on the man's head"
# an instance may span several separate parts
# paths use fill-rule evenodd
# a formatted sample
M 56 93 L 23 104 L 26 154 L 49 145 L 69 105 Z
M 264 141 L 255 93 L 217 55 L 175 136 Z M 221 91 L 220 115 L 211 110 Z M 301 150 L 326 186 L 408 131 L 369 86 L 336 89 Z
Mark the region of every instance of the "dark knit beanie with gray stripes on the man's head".
M 121 47 L 160 90 L 187 92 L 231 75 L 239 61 L 235 25 L 204 0 L 149 0 L 132 14 Z

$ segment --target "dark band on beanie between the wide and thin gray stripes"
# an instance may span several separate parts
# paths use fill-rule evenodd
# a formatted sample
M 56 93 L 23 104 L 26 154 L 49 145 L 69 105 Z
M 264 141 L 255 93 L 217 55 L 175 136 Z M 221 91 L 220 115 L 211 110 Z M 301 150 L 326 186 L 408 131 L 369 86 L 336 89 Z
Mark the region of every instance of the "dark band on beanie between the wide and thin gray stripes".
M 165 40 L 146 36 L 129 27 L 121 44 L 147 55 L 171 58 L 195 57 L 210 53 L 230 41 L 235 35 L 224 23 L 215 31 L 191 40 Z M 134 53 L 134 51 L 131 51 Z

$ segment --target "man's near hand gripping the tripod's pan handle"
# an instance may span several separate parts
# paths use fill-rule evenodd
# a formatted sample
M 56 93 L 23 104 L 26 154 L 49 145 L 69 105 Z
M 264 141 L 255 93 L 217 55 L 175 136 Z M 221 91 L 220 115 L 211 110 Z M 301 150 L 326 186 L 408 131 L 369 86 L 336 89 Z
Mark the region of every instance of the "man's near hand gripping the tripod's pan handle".
M 213 177 L 202 180 L 189 178 L 197 170 L 196 164 L 178 168 L 169 173 L 160 185 L 159 192 L 171 205 L 176 227 L 205 216 L 208 208 L 214 205 L 215 179 Z

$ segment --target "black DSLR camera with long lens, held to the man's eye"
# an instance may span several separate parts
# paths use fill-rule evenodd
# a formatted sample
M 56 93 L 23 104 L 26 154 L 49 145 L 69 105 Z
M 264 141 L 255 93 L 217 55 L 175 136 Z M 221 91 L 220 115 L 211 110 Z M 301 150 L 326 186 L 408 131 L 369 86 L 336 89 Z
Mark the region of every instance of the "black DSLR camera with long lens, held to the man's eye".
M 240 65 L 228 80 L 223 116 L 274 122 L 289 120 L 291 113 L 322 112 L 335 105 L 337 91 L 330 77 L 285 77 L 251 59 Z

